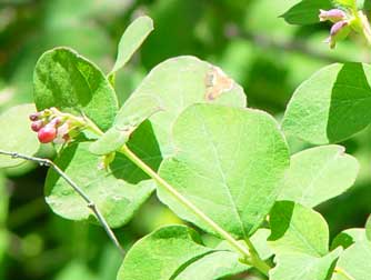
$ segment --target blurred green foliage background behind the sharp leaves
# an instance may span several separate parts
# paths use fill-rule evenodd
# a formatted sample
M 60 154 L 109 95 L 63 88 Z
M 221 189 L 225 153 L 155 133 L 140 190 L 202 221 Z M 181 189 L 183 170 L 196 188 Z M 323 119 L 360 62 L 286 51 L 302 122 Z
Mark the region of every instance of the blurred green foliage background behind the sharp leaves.
M 69 46 L 109 70 L 129 22 L 149 14 L 156 30 L 117 77 L 122 103 L 146 73 L 170 57 L 192 54 L 221 67 L 250 107 L 278 119 L 294 89 L 338 61 L 370 61 L 358 38 L 330 51 L 328 24 L 294 27 L 279 18 L 298 0 L 0 0 L 0 112 L 32 101 L 40 54 Z M 1 136 L 6 137 L 6 136 Z M 307 143 L 289 139 L 292 152 Z M 332 237 L 363 227 L 371 212 L 371 129 L 342 143 L 361 162 L 355 186 L 318 208 Z M 39 152 L 52 157 L 48 147 Z M 43 200 L 46 169 L 23 163 L 0 173 L 0 279 L 116 279 L 121 257 L 104 231 L 63 220 Z M 126 248 L 154 228 L 180 222 L 154 198 L 116 230 Z

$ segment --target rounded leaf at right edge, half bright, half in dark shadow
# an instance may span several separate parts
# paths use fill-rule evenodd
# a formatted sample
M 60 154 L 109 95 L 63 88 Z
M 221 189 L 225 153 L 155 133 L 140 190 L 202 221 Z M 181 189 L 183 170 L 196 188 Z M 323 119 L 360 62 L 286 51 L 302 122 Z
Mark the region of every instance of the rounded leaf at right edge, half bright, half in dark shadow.
M 371 122 L 371 68 L 362 63 L 331 64 L 293 93 L 283 129 L 312 143 L 342 141 Z

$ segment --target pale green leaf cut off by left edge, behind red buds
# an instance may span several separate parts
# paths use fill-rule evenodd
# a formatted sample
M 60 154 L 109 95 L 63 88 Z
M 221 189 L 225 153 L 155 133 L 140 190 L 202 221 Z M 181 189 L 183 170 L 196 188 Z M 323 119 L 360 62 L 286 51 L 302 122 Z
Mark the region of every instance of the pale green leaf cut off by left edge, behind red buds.
M 34 104 L 20 104 L 10 108 L 0 116 L 0 150 L 33 156 L 40 147 L 37 133 L 30 126 L 29 114 L 36 112 Z M 0 156 L 0 168 L 16 167 L 22 159 Z

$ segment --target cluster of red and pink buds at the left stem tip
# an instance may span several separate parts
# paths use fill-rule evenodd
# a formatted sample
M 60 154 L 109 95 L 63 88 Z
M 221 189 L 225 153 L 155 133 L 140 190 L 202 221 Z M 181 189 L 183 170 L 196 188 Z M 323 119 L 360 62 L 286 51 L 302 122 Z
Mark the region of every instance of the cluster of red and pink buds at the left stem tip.
M 66 143 L 70 140 L 71 130 L 76 129 L 76 123 L 61 113 L 57 108 L 46 109 L 29 116 L 31 129 L 38 132 L 41 143 Z

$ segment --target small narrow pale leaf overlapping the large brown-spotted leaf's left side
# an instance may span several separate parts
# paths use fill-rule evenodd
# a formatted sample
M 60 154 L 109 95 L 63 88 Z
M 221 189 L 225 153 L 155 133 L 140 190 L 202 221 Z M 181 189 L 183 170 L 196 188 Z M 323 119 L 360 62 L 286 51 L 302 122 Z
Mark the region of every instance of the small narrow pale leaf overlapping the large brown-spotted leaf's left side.
M 96 154 L 108 154 L 119 150 L 130 134 L 153 113 L 161 110 L 161 102 L 154 96 L 132 96 L 118 112 L 112 128 L 90 146 Z

